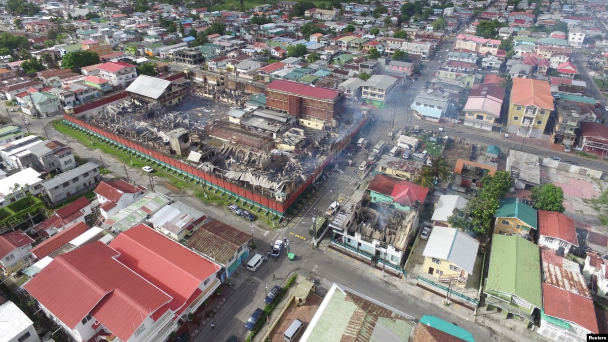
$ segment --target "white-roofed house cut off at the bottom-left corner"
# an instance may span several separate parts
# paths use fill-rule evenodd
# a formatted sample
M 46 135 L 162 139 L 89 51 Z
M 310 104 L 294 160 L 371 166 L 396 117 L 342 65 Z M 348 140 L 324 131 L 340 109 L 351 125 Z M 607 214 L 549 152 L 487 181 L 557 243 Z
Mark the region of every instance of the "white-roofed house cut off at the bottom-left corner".
M 0 305 L 0 341 L 40 342 L 32 319 L 11 301 Z

